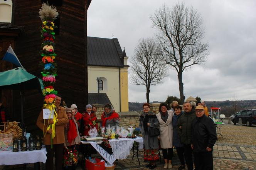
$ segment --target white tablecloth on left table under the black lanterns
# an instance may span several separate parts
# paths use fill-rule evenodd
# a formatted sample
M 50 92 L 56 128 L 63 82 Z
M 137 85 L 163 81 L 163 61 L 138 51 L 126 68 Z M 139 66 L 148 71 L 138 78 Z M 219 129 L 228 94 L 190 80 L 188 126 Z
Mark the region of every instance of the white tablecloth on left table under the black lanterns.
M 17 165 L 23 163 L 46 162 L 46 148 L 24 152 L 0 151 L 0 165 Z

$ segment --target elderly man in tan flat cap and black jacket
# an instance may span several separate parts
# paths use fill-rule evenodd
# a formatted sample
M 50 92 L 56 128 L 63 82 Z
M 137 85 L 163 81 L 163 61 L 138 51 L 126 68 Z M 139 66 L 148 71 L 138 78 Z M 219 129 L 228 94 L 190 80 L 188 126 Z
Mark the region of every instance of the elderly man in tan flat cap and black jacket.
M 195 108 L 196 118 L 192 121 L 191 148 L 194 151 L 195 169 L 212 170 L 212 147 L 217 135 L 214 122 L 204 114 L 204 107 Z

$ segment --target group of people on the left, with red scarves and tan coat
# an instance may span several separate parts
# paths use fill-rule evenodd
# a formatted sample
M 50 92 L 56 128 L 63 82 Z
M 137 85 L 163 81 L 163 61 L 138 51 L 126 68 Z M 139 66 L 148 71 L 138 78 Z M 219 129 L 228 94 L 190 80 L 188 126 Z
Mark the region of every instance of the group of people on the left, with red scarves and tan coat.
M 96 117 L 97 108 L 93 105 L 86 105 L 84 113 L 79 113 L 76 104 L 72 104 L 70 108 L 61 107 L 61 95 L 56 95 L 56 136 L 52 139 L 52 129 L 49 125 L 55 122 L 52 119 L 43 119 L 43 110 L 41 110 L 37 118 L 37 126 L 44 132 L 44 145 L 47 151 L 47 160 L 45 169 L 53 170 L 53 157 L 55 155 L 56 170 L 76 170 L 79 160 L 79 146 L 81 144 L 80 136 L 89 136 L 89 130 L 96 128 L 98 123 L 101 127 L 108 125 L 119 125 L 119 116 L 110 104 L 104 106 L 104 112 L 101 119 Z M 80 147 L 80 148 L 79 148 Z

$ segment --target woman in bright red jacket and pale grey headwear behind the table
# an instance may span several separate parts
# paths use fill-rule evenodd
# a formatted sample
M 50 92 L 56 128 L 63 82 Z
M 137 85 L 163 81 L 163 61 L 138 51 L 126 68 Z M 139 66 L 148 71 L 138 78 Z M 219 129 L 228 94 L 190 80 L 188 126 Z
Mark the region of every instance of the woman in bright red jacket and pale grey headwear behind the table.
M 88 132 L 91 128 L 96 127 L 98 130 L 97 117 L 92 108 L 92 105 L 86 105 L 86 112 L 83 113 L 84 136 L 89 136 Z

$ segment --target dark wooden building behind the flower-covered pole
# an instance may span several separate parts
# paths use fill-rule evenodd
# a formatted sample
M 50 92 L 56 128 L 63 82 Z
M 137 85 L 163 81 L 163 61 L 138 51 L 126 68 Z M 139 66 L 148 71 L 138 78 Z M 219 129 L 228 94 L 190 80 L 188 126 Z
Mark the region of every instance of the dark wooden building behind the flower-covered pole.
M 3 0 L 0 0 L 3 1 Z M 7 0 L 11 1 L 11 0 Z M 41 78 L 39 67 L 42 40 L 41 20 L 38 17 L 42 2 L 54 5 L 59 12 L 56 20 L 55 49 L 57 53 L 56 86 L 68 106 L 76 103 L 83 108 L 88 103 L 87 77 L 87 10 L 91 0 L 12 0 L 11 23 L 0 21 L 0 60 L 8 46 L 13 50 L 27 72 Z M 15 67 L 1 61 L 0 72 Z M 20 120 L 20 97 L 15 90 L 2 90 L 2 101 L 14 120 Z M 29 131 L 36 130 L 36 119 L 44 97 L 35 90 L 24 91 L 24 120 Z

